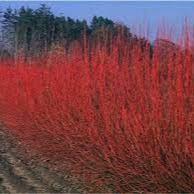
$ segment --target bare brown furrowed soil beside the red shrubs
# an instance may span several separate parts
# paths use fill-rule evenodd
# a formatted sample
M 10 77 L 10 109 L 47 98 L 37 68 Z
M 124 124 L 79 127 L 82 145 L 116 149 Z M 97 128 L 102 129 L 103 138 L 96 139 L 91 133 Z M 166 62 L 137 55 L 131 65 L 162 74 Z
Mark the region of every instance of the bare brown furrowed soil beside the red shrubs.
M 0 125 L 0 193 L 80 193 L 71 176 L 25 159 L 19 143 Z

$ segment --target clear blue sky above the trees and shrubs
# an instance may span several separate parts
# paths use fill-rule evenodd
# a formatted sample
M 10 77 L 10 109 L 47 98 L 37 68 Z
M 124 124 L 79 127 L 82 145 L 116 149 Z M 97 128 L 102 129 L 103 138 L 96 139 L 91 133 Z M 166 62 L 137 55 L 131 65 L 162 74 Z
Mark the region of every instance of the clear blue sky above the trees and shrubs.
M 173 26 L 176 33 L 185 18 L 189 21 L 194 19 L 194 2 L 191 1 L 0 1 L 0 10 L 21 6 L 35 9 L 41 3 L 47 4 L 56 15 L 88 22 L 94 15 L 104 16 L 128 25 L 136 33 L 147 29 L 146 33 L 151 38 L 163 23 Z

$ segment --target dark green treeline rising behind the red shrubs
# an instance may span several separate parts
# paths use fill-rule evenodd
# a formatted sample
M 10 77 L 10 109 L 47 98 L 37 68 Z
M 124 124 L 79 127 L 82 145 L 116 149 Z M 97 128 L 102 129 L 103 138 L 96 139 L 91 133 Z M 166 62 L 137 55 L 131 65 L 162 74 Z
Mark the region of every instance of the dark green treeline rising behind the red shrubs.
M 126 38 L 137 39 L 127 26 L 110 19 L 94 16 L 88 24 L 86 20 L 56 16 L 44 4 L 35 10 L 25 7 L 19 10 L 8 8 L 1 13 L 0 21 L 1 56 L 15 57 L 20 53 L 25 57 L 41 55 L 55 45 L 68 48 L 72 41 L 83 41 L 84 36 L 94 43 L 97 39 L 99 41 L 105 38 L 104 32 L 111 32 L 111 37 L 118 34 L 120 27 Z

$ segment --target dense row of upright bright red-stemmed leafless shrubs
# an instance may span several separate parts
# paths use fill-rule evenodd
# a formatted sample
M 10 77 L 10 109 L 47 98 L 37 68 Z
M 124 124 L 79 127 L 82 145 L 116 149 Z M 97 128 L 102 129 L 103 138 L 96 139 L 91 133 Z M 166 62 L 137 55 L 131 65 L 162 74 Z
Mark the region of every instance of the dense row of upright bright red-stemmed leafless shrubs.
M 75 42 L 1 62 L 0 118 L 27 149 L 116 192 L 193 192 L 194 53 L 158 39 Z M 81 175 L 82 174 L 82 175 Z

